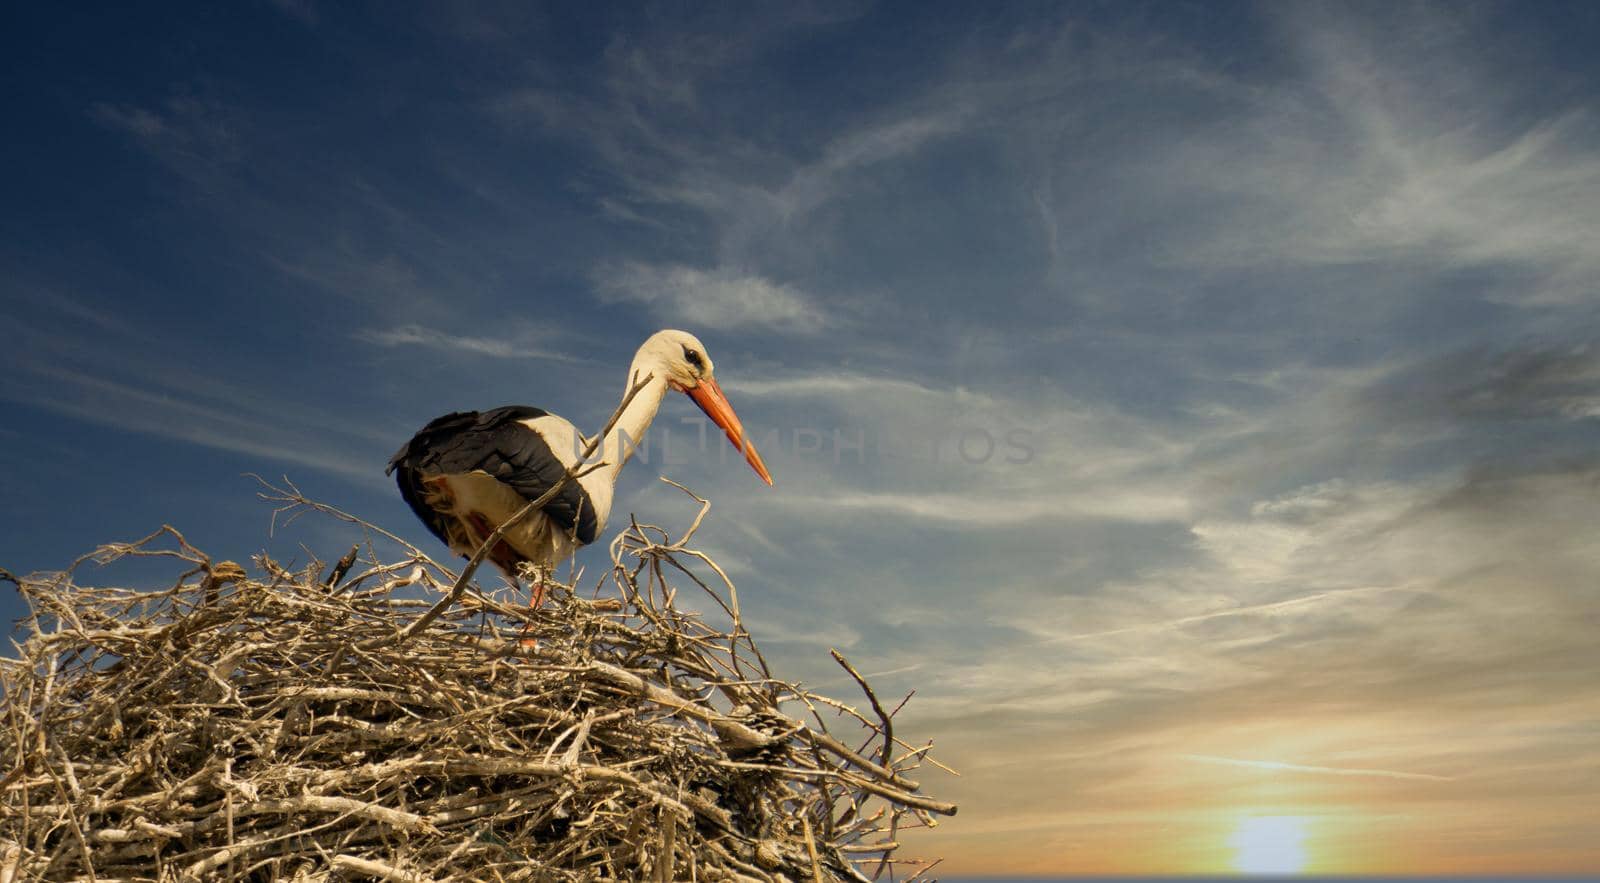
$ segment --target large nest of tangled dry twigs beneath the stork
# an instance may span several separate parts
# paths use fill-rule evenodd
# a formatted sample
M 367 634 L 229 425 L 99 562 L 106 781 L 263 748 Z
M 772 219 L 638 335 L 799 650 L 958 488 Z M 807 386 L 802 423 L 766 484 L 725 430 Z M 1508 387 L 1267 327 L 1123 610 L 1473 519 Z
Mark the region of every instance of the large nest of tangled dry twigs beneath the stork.
M 406 598 L 456 582 L 410 547 L 326 576 L 259 555 L 246 576 L 171 528 L 94 555 L 171 558 L 171 589 L 18 579 L 34 616 L 0 659 L 0 883 L 925 870 L 893 853 L 955 811 L 909 779 L 928 747 L 859 677 L 866 713 L 776 678 L 690 534 L 635 523 L 614 593 L 550 584 L 538 611 L 464 579 Z

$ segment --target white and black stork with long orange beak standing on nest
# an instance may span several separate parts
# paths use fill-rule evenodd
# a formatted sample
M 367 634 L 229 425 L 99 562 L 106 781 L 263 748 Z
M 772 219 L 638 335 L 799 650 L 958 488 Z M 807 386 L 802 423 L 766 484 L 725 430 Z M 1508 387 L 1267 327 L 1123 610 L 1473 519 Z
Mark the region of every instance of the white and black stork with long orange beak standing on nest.
M 578 470 L 574 481 L 507 528 L 488 552 L 512 581 L 522 565 L 533 565 L 538 576 L 531 601 L 538 606 L 544 574 L 605 529 L 616 477 L 669 390 L 688 394 L 755 473 L 773 483 L 694 334 L 656 331 L 638 347 L 627 378 L 621 414 L 587 461 L 584 448 L 590 440 L 571 422 L 539 408 L 509 405 L 430 421 L 395 451 L 384 473 L 395 475 L 400 496 L 434 536 L 470 558 L 506 520 L 544 496 L 568 470 Z

